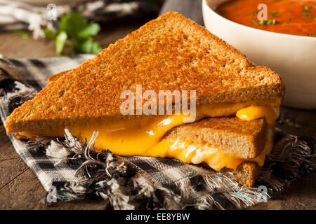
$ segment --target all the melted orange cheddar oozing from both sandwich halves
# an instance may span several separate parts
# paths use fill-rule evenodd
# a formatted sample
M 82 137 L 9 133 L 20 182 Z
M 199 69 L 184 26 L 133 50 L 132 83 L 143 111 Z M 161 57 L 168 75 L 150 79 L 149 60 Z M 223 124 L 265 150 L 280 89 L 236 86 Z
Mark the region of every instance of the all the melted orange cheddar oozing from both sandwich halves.
M 265 105 L 265 106 L 257 106 Z M 279 104 L 269 102 L 241 102 L 235 104 L 213 104 L 197 108 L 195 120 L 206 117 L 221 117 L 235 115 L 242 120 L 255 120 L 266 118 L 270 130 L 275 129 L 275 119 L 278 116 Z M 188 142 L 162 141 L 162 137 L 173 127 L 185 124 L 185 115 L 171 116 L 148 116 L 143 118 L 120 120 L 110 123 L 88 124 L 84 127 L 66 127 L 81 141 L 90 141 L 94 132 L 98 137 L 94 143 L 96 150 L 109 149 L 117 155 L 140 155 L 152 157 L 169 157 L 183 160 L 184 162 L 207 162 L 213 169 L 219 170 L 223 167 L 235 169 L 242 159 L 235 155 L 224 155 L 218 148 L 209 145 L 201 145 Z M 274 133 L 274 132 L 273 132 Z M 45 135 L 51 137 L 62 137 L 64 130 L 41 130 L 32 132 L 20 132 L 20 134 L 31 137 L 34 135 Z M 273 135 L 273 134 L 272 134 Z M 273 137 L 267 139 L 267 144 L 262 155 L 254 158 L 259 165 L 263 165 L 265 155 L 270 153 Z M 267 153 L 268 152 L 268 153 Z

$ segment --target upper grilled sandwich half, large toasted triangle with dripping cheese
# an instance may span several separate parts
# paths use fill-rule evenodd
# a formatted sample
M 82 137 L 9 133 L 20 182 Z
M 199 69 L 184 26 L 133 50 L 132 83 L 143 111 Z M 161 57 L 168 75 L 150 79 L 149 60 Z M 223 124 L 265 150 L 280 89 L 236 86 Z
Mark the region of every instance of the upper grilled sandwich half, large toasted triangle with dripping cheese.
M 98 132 L 97 150 L 147 155 L 169 130 L 186 123 L 185 114 L 123 115 L 121 92 L 136 92 L 137 85 L 143 92 L 196 91 L 196 117 L 191 122 L 223 116 L 265 118 L 272 130 L 284 97 L 284 83 L 277 73 L 255 66 L 204 27 L 170 12 L 76 69 L 55 76 L 34 99 L 8 116 L 7 134 L 27 139 L 63 137 L 67 128 L 89 141 Z

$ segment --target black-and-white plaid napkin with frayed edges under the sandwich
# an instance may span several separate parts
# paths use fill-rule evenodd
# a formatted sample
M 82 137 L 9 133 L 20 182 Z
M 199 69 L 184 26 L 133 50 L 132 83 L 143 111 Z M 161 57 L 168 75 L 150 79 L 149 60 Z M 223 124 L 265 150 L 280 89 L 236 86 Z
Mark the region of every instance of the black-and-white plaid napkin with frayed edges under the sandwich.
M 1 119 L 32 99 L 54 73 L 93 55 L 46 59 L 0 59 Z M 65 130 L 65 138 L 9 138 L 48 192 L 46 202 L 99 197 L 114 209 L 242 209 L 273 199 L 299 177 L 315 172 L 315 140 L 277 130 L 254 188 L 231 172 L 219 173 L 171 158 L 124 157 L 93 151 Z

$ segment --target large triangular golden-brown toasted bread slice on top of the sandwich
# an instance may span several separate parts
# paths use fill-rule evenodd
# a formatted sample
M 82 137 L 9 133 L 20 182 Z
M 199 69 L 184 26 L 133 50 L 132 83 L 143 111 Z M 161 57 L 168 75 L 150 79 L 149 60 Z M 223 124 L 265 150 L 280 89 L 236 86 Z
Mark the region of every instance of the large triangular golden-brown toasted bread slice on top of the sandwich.
M 7 134 L 122 116 L 122 90 L 196 90 L 197 104 L 273 100 L 284 96 L 279 75 L 252 66 L 207 29 L 169 12 L 68 71 L 15 109 Z

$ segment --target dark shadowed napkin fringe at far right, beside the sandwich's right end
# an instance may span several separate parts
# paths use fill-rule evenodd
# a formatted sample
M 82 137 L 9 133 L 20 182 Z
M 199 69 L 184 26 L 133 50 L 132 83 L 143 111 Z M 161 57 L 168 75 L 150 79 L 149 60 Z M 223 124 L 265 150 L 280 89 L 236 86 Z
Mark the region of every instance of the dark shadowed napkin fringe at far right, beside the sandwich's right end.
M 315 139 L 287 134 L 266 158 L 256 183 L 270 188 L 270 195 L 275 197 L 310 172 L 316 172 Z

